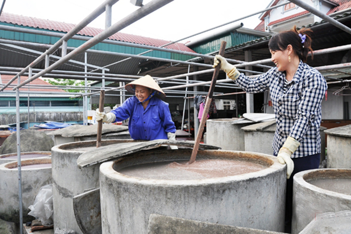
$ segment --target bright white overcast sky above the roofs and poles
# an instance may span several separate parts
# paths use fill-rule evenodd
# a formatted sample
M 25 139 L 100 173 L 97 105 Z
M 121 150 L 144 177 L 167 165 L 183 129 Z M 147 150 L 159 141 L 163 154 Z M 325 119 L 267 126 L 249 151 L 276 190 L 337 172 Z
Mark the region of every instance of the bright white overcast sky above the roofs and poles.
M 4 0 L 0 0 L 1 3 L 2 1 Z M 104 0 L 6 0 L 3 12 L 78 24 L 103 2 Z M 149 2 L 151 0 L 143 0 L 144 5 Z M 264 10 L 271 2 L 272 0 L 174 0 L 120 32 L 178 41 Z M 138 8 L 132 5 L 130 0 L 119 0 L 112 6 L 112 24 Z M 231 25 L 243 23 L 244 28 L 254 29 L 260 23 L 260 15 L 257 14 Z M 100 15 L 88 26 L 104 29 L 105 15 Z M 210 33 L 213 34 L 214 31 L 181 42 L 196 40 Z

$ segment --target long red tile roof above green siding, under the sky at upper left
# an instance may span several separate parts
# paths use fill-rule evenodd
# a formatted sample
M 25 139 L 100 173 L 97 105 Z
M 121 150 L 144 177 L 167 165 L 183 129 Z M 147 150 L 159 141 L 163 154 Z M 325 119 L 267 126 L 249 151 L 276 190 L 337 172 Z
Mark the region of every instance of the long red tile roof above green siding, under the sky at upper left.
M 5 22 L 9 24 L 14 24 L 14 25 L 22 25 L 22 26 L 38 28 L 38 29 L 53 30 L 53 31 L 64 32 L 64 33 L 69 32 L 75 26 L 74 24 L 37 19 L 35 17 L 19 16 L 19 15 L 5 13 L 5 12 L 1 14 L 0 22 Z M 94 37 L 99 33 L 101 33 L 102 31 L 103 31 L 102 29 L 85 27 L 78 33 L 78 35 Z M 119 32 L 109 37 L 109 39 L 121 41 L 121 42 L 136 43 L 140 45 L 155 46 L 155 47 L 159 47 L 170 42 L 165 40 L 152 39 L 152 38 L 136 36 L 132 34 L 119 33 Z M 193 50 L 191 50 L 189 47 L 185 46 L 182 43 L 175 43 L 165 48 L 194 52 Z

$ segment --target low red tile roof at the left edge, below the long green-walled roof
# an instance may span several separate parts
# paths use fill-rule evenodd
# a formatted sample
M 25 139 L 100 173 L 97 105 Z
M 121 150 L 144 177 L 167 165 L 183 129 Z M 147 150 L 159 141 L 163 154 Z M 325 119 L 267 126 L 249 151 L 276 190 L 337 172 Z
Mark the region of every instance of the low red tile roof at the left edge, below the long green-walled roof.
M 1 81 L 0 84 L 7 84 L 14 76 L 13 75 L 1 75 Z M 21 82 L 27 80 L 28 77 L 21 76 Z M 12 82 L 11 85 L 17 85 L 18 80 L 16 79 L 14 82 Z M 30 85 L 50 85 L 48 82 L 38 78 L 35 79 L 32 82 L 29 82 Z M 8 87 L 4 91 L 12 91 L 13 87 Z M 28 91 L 28 88 L 20 88 L 20 91 Z M 45 93 L 53 93 L 53 92 L 60 92 L 60 93 L 66 93 L 62 89 L 45 89 L 45 88 L 29 88 L 29 91 L 32 92 L 45 92 Z

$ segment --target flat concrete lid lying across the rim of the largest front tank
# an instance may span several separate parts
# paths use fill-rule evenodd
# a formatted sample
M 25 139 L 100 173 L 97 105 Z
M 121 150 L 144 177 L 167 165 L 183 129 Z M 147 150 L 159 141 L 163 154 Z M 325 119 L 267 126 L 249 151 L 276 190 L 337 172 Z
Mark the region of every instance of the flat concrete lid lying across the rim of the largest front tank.
M 101 146 L 81 154 L 77 159 L 80 168 L 92 166 L 97 163 L 116 159 L 128 154 L 141 151 L 144 149 L 158 148 L 162 145 L 175 145 L 182 148 L 194 148 L 195 141 L 170 141 L 170 140 L 152 140 L 152 141 L 129 141 L 123 144 L 111 144 Z M 220 147 L 200 144 L 199 149 L 220 149 Z

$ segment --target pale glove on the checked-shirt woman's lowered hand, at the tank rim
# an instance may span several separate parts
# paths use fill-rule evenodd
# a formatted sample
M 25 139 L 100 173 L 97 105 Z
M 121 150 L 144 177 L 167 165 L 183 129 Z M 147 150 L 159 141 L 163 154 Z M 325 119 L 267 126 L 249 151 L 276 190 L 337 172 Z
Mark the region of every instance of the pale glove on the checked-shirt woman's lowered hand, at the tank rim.
M 279 153 L 277 155 L 277 159 L 281 164 L 286 164 L 286 177 L 289 179 L 291 173 L 294 170 L 294 162 L 291 159 L 291 154 L 295 152 L 297 147 L 299 147 L 300 143 L 289 136 L 284 142 L 283 146 L 280 148 Z

